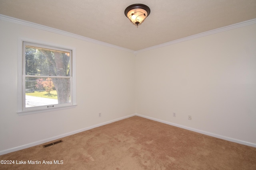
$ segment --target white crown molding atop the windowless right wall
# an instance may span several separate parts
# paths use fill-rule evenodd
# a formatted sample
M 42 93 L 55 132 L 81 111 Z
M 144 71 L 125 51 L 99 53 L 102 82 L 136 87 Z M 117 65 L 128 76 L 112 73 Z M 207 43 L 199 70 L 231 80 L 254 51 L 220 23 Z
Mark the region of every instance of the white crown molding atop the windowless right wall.
M 252 19 L 252 20 L 243 21 L 243 22 L 232 24 L 232 25 L 228 25 L 228 26 L 225 26 L 225 27 L 220 27 L 220 28 L 217 28 L 217 29 L 212 29 L 210 31 L 206 31 L 206 32 L 203 32 L 203 33 L 198 33 L 198 34 L 195 34 L 195 35 L 191 35 L 191 36 L 188 36 L 188 37 L 184 37 L 184 38 L 177 39 L 177 40 L 174 40 L 174 41 L 170 41 L 170 42 L 167 42 L 167 43 L 163 43 L 163 44 L 160 44 L 160 45 L 155 45 L 155 46 L 152 46 L 152 47 L 148 47 L 146 49 L 141 49 L 141 50 L 135 51 L 134 53 L 138 54 L 138 53 L 142 53 L 144 51 L 149 51 L 149 50 L 152 50 L 152 49 L 157 49 L 157 48 L 160 48 L 160 47 L 165 47 L 165 46 L 180 43 L 180 42 L 183 42 L 183 41 L 188 41 L 188 40 L 191 40 L 191 39 L 196 39 L 196 38 L 204 37 L 204 36 L 207 36 L 207 35 L 212 35 L 212 34 L 224 32 L 224 31 L 228 31 L 228 30 L 236 29 L 236 28 L 240 28 L 240 27 L 245 27 L 245 26 L 249 26 L 249 25 L 253 25 L 253 24 L 256 24 L 256 18 Z

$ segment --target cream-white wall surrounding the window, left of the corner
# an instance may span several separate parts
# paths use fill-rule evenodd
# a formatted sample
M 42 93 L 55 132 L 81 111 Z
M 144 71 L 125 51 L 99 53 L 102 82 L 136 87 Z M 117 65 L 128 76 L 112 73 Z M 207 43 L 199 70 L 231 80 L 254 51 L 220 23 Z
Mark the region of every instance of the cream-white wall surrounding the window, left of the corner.
M 130 51 L 0 20 L 0 152 L 31 146 L 135 113 L 135 57 Z M 19 116 L 18 39 L 35 39 L 76 48 L 78 106 Z M 98 113 L 102 117 L 98 117 Z M 38 142 L 39 141 L 39 142 Z M 31 145 L 29 145 L 31 144 Z M 16 149 L 16 150 L 17 150 Z

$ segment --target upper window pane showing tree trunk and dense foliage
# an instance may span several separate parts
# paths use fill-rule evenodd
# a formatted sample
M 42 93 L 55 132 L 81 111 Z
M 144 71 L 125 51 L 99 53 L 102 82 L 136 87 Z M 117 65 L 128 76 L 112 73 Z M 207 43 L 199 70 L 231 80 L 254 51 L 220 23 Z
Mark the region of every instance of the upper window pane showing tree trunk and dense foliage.
M 70 53 L 26 45 L 26 75 L 70 76 Z

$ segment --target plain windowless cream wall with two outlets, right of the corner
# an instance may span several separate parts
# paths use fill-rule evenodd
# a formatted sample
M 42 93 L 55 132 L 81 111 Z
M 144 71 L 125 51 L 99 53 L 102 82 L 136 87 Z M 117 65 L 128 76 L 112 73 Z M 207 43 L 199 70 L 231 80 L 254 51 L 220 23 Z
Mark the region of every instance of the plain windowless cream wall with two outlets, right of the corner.
M 138 53 L 136 106 L 140 115 L 256 146 L 256 25 Z

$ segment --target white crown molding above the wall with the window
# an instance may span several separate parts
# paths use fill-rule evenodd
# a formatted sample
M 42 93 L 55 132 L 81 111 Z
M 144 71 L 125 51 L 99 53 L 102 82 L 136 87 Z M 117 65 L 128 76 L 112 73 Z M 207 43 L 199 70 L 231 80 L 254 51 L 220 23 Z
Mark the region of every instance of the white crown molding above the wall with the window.
M 126 49 L 126 48 L 119 47 L 119 46 L 116 46 L 116 45 L 112 45 L 112 44 L 109 44 L 109 43 L 104 43 L 102 41 L 98 41 L 98 40 L 95 40 L 95 39 L 91 39 L 91 38 L 84 37 L 84 36 L 81 36 L 81 35 L 77 35 L 77 34 L 74 34 L 74 33 L 70 33 L 70 32 L 67 32 L 67 31 L 62 31 L 60 29 L 48 27 L 48 26 L 41 25 L 41 24 L 38 24 L 38 23 L 33 23 L 33 22 L 30 22 L 30 21 L 20 20 L 18 18 L 13 18 L 13 17 L 10 17 L 10 16 L 5 16 L 5 15 L 2 15 L 2 14 L 0 14 L 0 20 L 8 21 L 8 22 L 11 22 L 11 23 L 16 23 L 16 24 L 19 24 L 19 25 L 24 25 L 24 26 L 28 26 L 28 27 L 32 27 L 32 28 L 36 28 L 36 29 L 41 29 L 41 30 L 44 30 L 44 31 L 49 31 L 49 32 L 52 32 L 52 33 L 60 34 L 60 35 L 65 35 L 65 36 L 68 36 L 68 37 L 80 39 L 80 40 L 87 41 L 87 42 L 90 42 L 90 43 L 104 45 L 104 46 L 107 46 L 107 47 L 112 47 L 112 48 L 119 49 L 119 50 L 122 50 L 122 51 L 127 51 L 127 52 L 130 52 L 130 53 L 134 53 L 134 50 Z

